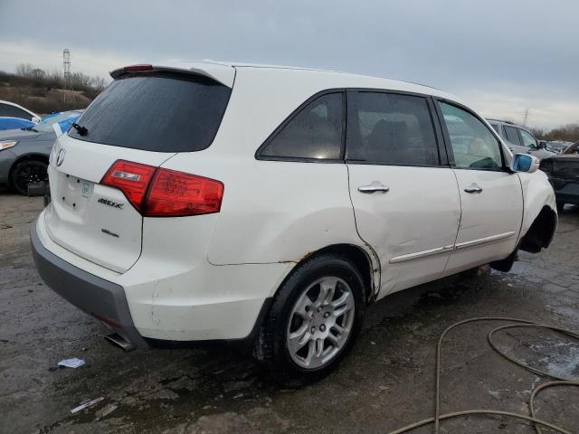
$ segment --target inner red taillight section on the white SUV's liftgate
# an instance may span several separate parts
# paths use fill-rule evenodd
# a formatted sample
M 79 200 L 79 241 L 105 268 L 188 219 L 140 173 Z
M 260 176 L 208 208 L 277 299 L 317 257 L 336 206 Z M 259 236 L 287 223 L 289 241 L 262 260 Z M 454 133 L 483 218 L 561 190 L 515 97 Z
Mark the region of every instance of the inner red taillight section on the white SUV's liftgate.
M 130 161 L 117 160 L 110 166 L 109 171 L 102 177 L 100 184 L 118 188 L 125 193 L 128 202 L 141 211 L 143 196 L 147 192 L 147 186 L 157 167 L 153 165 L 140 165 Z

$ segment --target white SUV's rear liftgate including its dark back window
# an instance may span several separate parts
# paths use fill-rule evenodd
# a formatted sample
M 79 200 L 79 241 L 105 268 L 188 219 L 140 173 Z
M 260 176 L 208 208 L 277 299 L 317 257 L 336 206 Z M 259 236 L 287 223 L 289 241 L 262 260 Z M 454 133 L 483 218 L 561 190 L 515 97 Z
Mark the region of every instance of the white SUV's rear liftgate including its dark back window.
M 129 269 L 141 252 L 143 218 L 119 189 L 100 184 L 103 176 L 118 160 L 157 167 L 210 146 L 230 94 L 188 73 L 127 73 L 113 81 L 53 146 L 52 203 L 44 214 L 52 241 L 108 269 Z M 138 203 L 146 175 L 112 175 L 135 183 Z

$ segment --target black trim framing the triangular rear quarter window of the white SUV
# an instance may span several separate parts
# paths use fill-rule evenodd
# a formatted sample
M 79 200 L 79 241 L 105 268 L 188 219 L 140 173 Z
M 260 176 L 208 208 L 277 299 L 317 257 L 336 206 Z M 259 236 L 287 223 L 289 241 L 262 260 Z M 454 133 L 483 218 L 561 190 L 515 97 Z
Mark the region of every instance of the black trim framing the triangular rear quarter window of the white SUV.
M 334 93 L 339 93 L 342 95 L 342 137 L 340 140 L 340 156 L 339 158 L 307 158 L 303 156 L 262 156 L 261 152 L 268 146 L 286 127 L 289 122 L 293 120 L 296 116 L 301 113 L 303 109 L 308 107 L 308 105 L 315 101 L 316 99 L 323 97 L 325 95 L 330 95 Z M 346 103 L 346 89 L 345 88 L 336 88 L 336 89 L 327 89 L 321 90 L 318 93 L 313 94 L 311 97 L 306 99 L 302 102 L 299 107 L 291 112 L 287 118 L 280 123 L 278 127 L 276 127 L 271 135 L 265 139 L 265 141 L 261 144 L 260 147 L 257 148 L 255 151 L 255 159 L 262 160 L 262 161 L 287 161 L 287 162 L 299 162 L 299 163 L 321 163 L 321 164 L 335 164 L 335 163 L 344 163 L 344 156 L 346 152 L 346 118 L 347 118 L 347 103 Z

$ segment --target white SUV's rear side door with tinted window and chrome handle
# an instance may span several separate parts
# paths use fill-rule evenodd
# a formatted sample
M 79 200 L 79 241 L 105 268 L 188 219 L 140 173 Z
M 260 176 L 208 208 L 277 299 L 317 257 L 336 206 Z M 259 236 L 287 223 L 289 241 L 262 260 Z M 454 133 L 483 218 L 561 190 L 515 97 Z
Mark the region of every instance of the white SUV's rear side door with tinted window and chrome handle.
M 459 193 L 439 153 L 431 99 L 359 90 L 347 100 L 356 228 L 378 254 L 384 297 L 441 275 L 459 227 Z

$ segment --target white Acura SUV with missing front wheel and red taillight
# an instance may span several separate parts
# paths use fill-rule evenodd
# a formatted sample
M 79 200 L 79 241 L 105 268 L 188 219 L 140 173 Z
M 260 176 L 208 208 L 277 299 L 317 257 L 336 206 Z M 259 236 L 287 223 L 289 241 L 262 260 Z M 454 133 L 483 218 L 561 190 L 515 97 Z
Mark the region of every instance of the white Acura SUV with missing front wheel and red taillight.
M 553 237 L 536 158 L 508 165 L 439 90 L 209 62 L 111 75 L 53 147 L 31 238 L 47 285 L 127 350 L 227 340 L 319 378 L 366 304 Z

